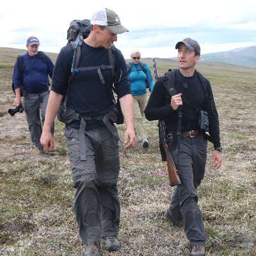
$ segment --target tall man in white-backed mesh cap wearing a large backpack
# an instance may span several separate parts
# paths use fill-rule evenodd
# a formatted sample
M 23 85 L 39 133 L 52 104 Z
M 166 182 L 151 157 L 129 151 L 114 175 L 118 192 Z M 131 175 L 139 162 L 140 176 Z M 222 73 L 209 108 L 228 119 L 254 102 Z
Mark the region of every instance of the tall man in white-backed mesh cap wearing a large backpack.
M 109 66 L 111 64 L 108 53 L 113 42 L 117 40 L 116 35 L 128 30 L 122 26 L 118 15 L 108 9 L 96 12 L 91 19 L 91 24 L 92 31 L 81 45 L 79 67 Z M 41 137 L 42 145 L 47 151 L 51 151 L 54 147 L 50 128 L 60 108 L 63 95 L 67 92 L 72 54 L 71 45 L 63 47 L 54 68 L 52 89 Z M 104 241 L 106 250 L 115 251 L 120 248 L 117 239 L 120 202 L 116 185 L 120 171 L 119 136 L 113 122 L 109 122 L 106 118 L 114 107 L 113 82 L 127 125 L 124 149 L 134 146 L 135 132 L 127 68 L 124 56 L 118 49 L 115 49 L 114 60 L 114 81 L 110 68 L 81 70 L 76 73 L 70 83 L 68 93 L 68 108 L 74 109 L 82 116 L 81 120 L 66 124 L 65 136 L 74 188 L 76 188 L 74 210 L 79 234 L 86 246 L 85 256 L 100 255 L 101 239 Z M 85 126 L 82 134 L 81 125 Z M 84 147 L 85 156 L 82 155 L 81 150 Z

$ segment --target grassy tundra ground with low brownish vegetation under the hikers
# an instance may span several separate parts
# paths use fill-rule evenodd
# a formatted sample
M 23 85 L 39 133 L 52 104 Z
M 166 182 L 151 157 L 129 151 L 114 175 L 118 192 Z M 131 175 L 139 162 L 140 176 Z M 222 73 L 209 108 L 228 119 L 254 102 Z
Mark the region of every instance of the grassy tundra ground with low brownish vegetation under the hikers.
M 12 57 L 13 53 L 1 56 Z M 63 124 L 56 122 L 56 152 L 39 155 L 31 145 L 24 113 L 8 114 L 8 108 L 13 108 L 10 86 L 15 57 L 4 60 L 0 65 L 0 255 L 83 255 L 72 209 L 74 190 Z M 152 67 L 152 60 L 145 61 Z M 175 62 L 166 60 L 158 60 L 157 65 L 159 74 L 176 67 Z M 205 179 L 198 188 L 207 255 L 253 256 L 255 70 L 220 63 L 199 63 L 197 69 L 212 83 L 224 148 L 223 166 L 213 171 L 209 144 Z M 103 250 L 102 255 L 189 255 L 182 228 L 164 218 L 173 188 L 159 154 L 157 122 L 145 121 L 145 126 L 150 147 L 138 144 L 127 151 L 128 158 L 120 150 L 122 248 L 113 253 Z M 121 137 L 124 129 L 124 125 L 118 126 Z

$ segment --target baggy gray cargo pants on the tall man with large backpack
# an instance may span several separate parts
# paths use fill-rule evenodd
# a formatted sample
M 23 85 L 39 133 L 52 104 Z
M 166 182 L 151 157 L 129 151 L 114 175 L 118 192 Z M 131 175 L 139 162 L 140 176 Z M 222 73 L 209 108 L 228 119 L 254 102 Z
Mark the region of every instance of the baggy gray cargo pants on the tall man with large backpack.
M 113 128 L 116 130 L 115 125 Z M 118 138 L 107 127 L 85 130 L 86 159 L 81 160 L 79 129 L 66 126 L 65 136 L 75 188 L 74 211 L 83 244 L 100 241 L 104 236 L 117 236 Z

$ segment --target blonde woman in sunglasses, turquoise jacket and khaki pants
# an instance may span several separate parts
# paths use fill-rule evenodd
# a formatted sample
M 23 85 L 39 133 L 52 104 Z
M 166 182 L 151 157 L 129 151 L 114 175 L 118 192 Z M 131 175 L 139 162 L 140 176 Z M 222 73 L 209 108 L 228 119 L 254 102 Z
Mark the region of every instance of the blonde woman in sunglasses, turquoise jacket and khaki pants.
M 140 51 L 131 52 L 131 61 L 127 63 L 131 92 L 133 98 L 134 125 L 138 141 L 143 147 L 148 147 L 148 134 L 143 125 L 144 109 L 147 104 L 147 87 L 152 92 L 154 81 L 150 68 L 146 63 L 140 62 Z

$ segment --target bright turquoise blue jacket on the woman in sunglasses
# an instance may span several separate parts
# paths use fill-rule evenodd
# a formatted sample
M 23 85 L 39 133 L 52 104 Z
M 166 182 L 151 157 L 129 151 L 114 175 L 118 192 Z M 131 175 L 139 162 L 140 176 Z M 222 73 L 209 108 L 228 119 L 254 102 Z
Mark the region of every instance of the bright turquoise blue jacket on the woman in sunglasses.
M 140 62 L 138 64 L 134 64 L 132 61 L 130 61 L 130 63 L 132 65 L 132 70 L 131 70 L 131 73 L 129 74 L 129 80 L 131 82 L 132 96 L 142 96 L 142 95 L 145 95 L 145 93 L 147 93 L 147 90 L 146 90 L 147 78 L 148 78 L 148 81 L 150 82 L 149 84 L 150 92 L 152 92 L 154 88 L 154 81 L 148 65 L 144 63 L 144 67 L 147 72 L 147 76 L 146 76 L 146 74 L 141 69 Z M 127 66 L 127 70 L 128 70 L 128 66 Z

